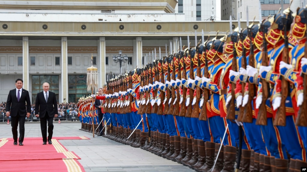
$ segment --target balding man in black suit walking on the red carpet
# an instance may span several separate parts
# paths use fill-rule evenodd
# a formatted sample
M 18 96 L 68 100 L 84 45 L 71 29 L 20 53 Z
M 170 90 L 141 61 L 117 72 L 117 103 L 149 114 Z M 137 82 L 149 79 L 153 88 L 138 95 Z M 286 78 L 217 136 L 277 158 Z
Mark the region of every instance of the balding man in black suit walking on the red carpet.
M 48 121 L 48 144 L 52 144 L 53 118 L 58 116 L 56 94 L 49 91 L 49 83 L 43 83 L 44 91 L 37 93 L 35 101 L 35 116 L 40 118 L 41 135 L 43 144 L 47 144 L 47 121 Z

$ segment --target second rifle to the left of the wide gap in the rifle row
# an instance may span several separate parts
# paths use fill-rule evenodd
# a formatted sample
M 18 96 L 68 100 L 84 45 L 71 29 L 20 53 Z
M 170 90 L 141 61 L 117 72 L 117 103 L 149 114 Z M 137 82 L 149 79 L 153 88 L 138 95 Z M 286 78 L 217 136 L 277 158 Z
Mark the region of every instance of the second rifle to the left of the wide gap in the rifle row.
M 197 68 L 196 68 L 196 75 L 198 77 L 201 77 L 200 73 L 200 57 L 199 57 L 199 52 L 198 52 L 198 46 L 199 43 L 196 45 L 196 54 L 197 55 Z M 202 52 L 201 52 L 202 53 Z M 194 74 L 194 73 L 193 73 Z M 201 82 L 201 80 L 199 81 Z M 196 103 L 193 105 L 193 111 L 192 111 L 192 118 L 199 118 L 199 100 L 200 100 L 200 95 L 202 94 L 200 87 L 196 86 Z M 193 92 L 194 95 L 194 92 Z

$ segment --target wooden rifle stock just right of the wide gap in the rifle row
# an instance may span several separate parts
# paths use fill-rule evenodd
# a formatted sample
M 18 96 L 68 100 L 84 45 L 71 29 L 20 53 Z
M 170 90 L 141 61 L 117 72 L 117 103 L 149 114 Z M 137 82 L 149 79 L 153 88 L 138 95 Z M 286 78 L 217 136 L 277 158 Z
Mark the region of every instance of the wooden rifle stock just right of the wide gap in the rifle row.
M 233 51 L 233 58 L 231 62 L 231 69 L 235 72 L 238 71 L 237 66 L 237 52 Z M 235 120 L 235 83 L 231 83 L 231 100 L 226 114 L 226 119 Z M 221 88 L 222 89 L 222 88 Z

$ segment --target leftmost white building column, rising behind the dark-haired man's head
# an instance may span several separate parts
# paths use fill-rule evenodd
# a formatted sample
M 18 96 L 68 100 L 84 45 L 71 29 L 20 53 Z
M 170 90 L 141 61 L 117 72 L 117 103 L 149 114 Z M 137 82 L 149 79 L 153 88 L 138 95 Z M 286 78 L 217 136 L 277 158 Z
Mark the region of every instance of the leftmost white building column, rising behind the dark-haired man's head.
M 22 37 L 22 80 L 23 88 L 29 90 L 29 38 L 27 36 Z M 30 91 L 32 92 L 32 91 Z

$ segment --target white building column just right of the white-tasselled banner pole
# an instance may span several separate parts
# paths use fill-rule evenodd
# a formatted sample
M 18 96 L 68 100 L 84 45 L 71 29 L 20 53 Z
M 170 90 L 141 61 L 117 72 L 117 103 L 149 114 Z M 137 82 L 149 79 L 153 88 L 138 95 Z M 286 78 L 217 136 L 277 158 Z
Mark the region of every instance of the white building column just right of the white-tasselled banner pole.
M 101 88 L 106 83 L 106 38 L 100 37 L 98 41 L 98 87 Z

